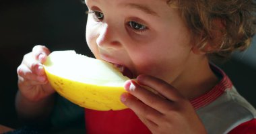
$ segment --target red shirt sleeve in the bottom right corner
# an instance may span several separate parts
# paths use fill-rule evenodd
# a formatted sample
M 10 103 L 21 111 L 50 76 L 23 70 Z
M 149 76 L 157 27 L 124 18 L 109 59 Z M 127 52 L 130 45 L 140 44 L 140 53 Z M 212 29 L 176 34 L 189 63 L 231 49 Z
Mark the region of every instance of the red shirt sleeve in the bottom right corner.
M 252 119 L 232 129 L 228 134 L 251 133 L 256 134 L 256 119 Z

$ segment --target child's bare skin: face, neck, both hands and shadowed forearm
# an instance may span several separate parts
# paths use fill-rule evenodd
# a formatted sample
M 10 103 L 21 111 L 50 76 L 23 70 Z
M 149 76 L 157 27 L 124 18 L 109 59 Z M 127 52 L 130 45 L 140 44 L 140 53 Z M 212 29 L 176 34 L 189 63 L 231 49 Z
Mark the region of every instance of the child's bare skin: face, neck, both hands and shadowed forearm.
M 206 133 L 189 100 L 211 90 L 218 78 L 194 47 L 179 12 L 156 0 L 88 0 L 86 5 L 86 40 L 94 56 L 125 66 L 137 79 L 125 83 L 129 93 L 121 101 L 152 133 Z M 16 108 L 29 121 L 46 119 L 53 109 L 55 91 L 42 68 L 49 53 L 35 46 L 17 70 Z

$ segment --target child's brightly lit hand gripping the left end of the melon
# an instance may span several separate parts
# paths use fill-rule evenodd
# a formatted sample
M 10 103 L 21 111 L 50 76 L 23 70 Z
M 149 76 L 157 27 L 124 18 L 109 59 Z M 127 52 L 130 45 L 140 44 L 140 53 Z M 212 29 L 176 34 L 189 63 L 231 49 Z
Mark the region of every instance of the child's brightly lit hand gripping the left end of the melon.
M 20 93 L 30 101 L 42 100 L 55 92 L 47 81 L 42 66 L 49 54 L 46 47 L 35 46 L 32 52 L 24 56 L 17 69 Z

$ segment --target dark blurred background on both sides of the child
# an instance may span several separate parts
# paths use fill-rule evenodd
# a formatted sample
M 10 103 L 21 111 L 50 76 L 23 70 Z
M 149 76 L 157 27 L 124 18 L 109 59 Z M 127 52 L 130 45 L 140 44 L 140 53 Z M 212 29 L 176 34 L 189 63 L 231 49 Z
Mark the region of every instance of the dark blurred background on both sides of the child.
M 12 0 L 0 2 L 0 124 L 21 127 L 15 108 L 16 68 L 24 54 L 41 44 L 50 50 L 75 50 L 92 56 L 86 45 L 86 7 L 82 0 Z M 256 40 L 219 66 L 256 107 Z

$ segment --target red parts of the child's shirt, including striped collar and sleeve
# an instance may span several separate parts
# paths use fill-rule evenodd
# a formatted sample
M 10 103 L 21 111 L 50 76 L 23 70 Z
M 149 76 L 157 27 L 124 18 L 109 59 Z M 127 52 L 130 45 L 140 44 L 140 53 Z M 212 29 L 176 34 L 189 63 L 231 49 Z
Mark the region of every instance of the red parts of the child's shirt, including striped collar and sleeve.
M 232 87 L 232 82 L 224 74 L 224 72 L 216 67 L 213 67 L 216 72 L 220 73 L 222 80 L 210 91 L 202 96 L 199 96 L 191 100 L 191 105 L 195 110 L 200 107 L 204 107 L 212 103 L 219 96 L 221 96 L 226 89 Z M 88 134 L 98 133 L 111 133 L 111 134 L 148 134 L 151 133 L 149 129 L 144 125 L 137 115 L 130 109 L 122 111 L 94 111 L 86 109 L 86 132 Z M 171 130 L 170 130 L 171 131 Z M 229 134 L 245 133 L 245 134 L 256 134 L 256 119 L 246 121 L 241 125 L 238 125 Z

